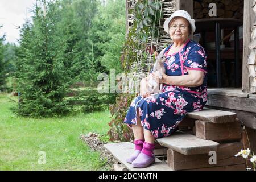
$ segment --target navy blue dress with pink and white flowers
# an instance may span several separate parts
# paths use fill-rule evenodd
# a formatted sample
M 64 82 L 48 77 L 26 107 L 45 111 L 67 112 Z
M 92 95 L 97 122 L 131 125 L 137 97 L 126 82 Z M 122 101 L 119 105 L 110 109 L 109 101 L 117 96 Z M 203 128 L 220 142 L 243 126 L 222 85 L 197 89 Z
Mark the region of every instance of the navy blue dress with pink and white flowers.
M 155 138 L 167 137 L 187 112 L 202 110 L 207 102 L 207 56 L 200 44 L 188 39 L 180 51 L 167 55 L 172 44 L 164 50 L 166 75 L 188 75 L 188 69 L 204 72 L 203 84 L 197 87 L 163 85 L 158 97 L 136 97 L 127 111 L 125 123 L 137 124 L 137 109 L 144 129 L 151 131 Z

